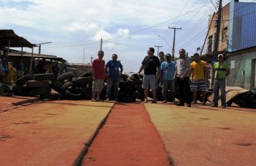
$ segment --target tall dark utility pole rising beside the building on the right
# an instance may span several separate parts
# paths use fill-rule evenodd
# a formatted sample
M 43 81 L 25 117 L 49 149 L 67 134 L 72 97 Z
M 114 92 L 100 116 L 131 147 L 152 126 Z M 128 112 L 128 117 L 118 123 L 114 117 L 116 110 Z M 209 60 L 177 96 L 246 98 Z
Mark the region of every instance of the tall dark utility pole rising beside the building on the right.
M 214 52 L 213 52 L 213 60 L 217 60 L 218 56 L 218 48 L 219 48 L 219 33 L 221 29 L 221 8 L 222 8 L 222 0 L 219 0 L 219 9 L 218 9 L 218 19 L 217 19 L 217 27 L 216 27 L 216 35 L 214 39 Z M 213 85 L 213 80 L 214 80 L 214 69 L 213 69 L 213 64 L 212 64 L 212 79 L 211 79 L 211 86 Z

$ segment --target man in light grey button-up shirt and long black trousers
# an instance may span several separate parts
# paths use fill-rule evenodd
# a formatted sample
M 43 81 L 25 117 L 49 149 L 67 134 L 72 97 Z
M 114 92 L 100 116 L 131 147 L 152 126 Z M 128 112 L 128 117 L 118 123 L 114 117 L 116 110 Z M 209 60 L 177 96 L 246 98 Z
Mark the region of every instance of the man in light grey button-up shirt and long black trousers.
M 191 107 L 190 100 L 190 59 L 185 57 L 185 49 L 179 50 L 179 59 L 176 61 L 175 80 L 179 91 L 179 103 L 177 106 L 184 106 L 187 102 Z

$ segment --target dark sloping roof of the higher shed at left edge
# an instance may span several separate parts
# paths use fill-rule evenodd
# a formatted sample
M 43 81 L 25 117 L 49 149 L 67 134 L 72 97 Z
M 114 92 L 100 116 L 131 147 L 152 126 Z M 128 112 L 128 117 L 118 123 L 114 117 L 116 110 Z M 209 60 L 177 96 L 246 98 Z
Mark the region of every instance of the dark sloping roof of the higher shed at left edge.
M 19 37 L 13 30 L 0 30 L 0 47 L 28 47 L 33 48 L 37 45 L 31 44 L 23 37 Z

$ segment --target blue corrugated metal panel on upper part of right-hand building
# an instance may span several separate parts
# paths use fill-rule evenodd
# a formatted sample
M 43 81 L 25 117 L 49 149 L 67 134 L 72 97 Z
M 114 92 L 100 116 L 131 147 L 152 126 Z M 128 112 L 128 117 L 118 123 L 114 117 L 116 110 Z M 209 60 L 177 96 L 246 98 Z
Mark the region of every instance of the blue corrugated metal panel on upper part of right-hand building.
M 256 46 L 256 3 L 235 3 L 232 51 Z

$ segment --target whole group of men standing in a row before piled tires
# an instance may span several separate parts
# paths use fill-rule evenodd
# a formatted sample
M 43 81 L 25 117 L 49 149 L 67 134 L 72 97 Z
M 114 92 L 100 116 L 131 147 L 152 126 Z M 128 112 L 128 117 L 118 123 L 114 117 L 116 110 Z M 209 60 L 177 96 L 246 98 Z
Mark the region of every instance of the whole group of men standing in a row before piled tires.
M 104 79 L 107 77 L 107 93 L 106 98 L 110 100 L 111 89 L 113 88 L 113 100 L 118 101 L 118 86 L 120 75 L 123 68 L 118 55 L 113 54 L 112 59 L 105 64 L 104 52 L 98 51 L 98 58 L 92 62 L 93 75 L 93 98 L 92 101 L 100 101 L 100 93 L 104 84 Z M 154 55 L 154 48 L 150 47 L 147 50 L 147 56 L 138 70 L 138 77 L 143 71 L 143 89 L 145 100 L 148 102 L 149 89 L 152 90 L 153 100 L 156 103 L 156 89 L 162 86 L 163 103 L 167 103 L 167 95 L 170 91 L 172 102 L 177 106 L 184 106 L 187 103 L 188 107 L 191 104 L 196 104 L 196 91 L 201 89 L 202 104 L 205 105 L 206 80 L 208 80 L 208 70 L 206 62 L 200 59 L 198 53 L 194 53 L 194 61 L 190 62 L 188 57 L 185 57 L 185 49 L 179 50 L 179 58 L 176 62 L 172 61 L 172 55 L 163 52 L 159 53 L 159 58 Z M 223 55 L 218 55 L 218 62 L 214 64 L 214 99 L 211 107 L 218 107 L 219 90 L 221 91 L 221 107 L 226 108 L 226 77 L 230 74 L 230 66 L 223 62 Z M 120 71 L 119 71 L 120 68 Z M 191 79 L 190 79 L 191 77 Z M 175 91 L 179 92 L 179 102 L 175 101 Z M 190 93 L 192 92 L 192 101 Z

